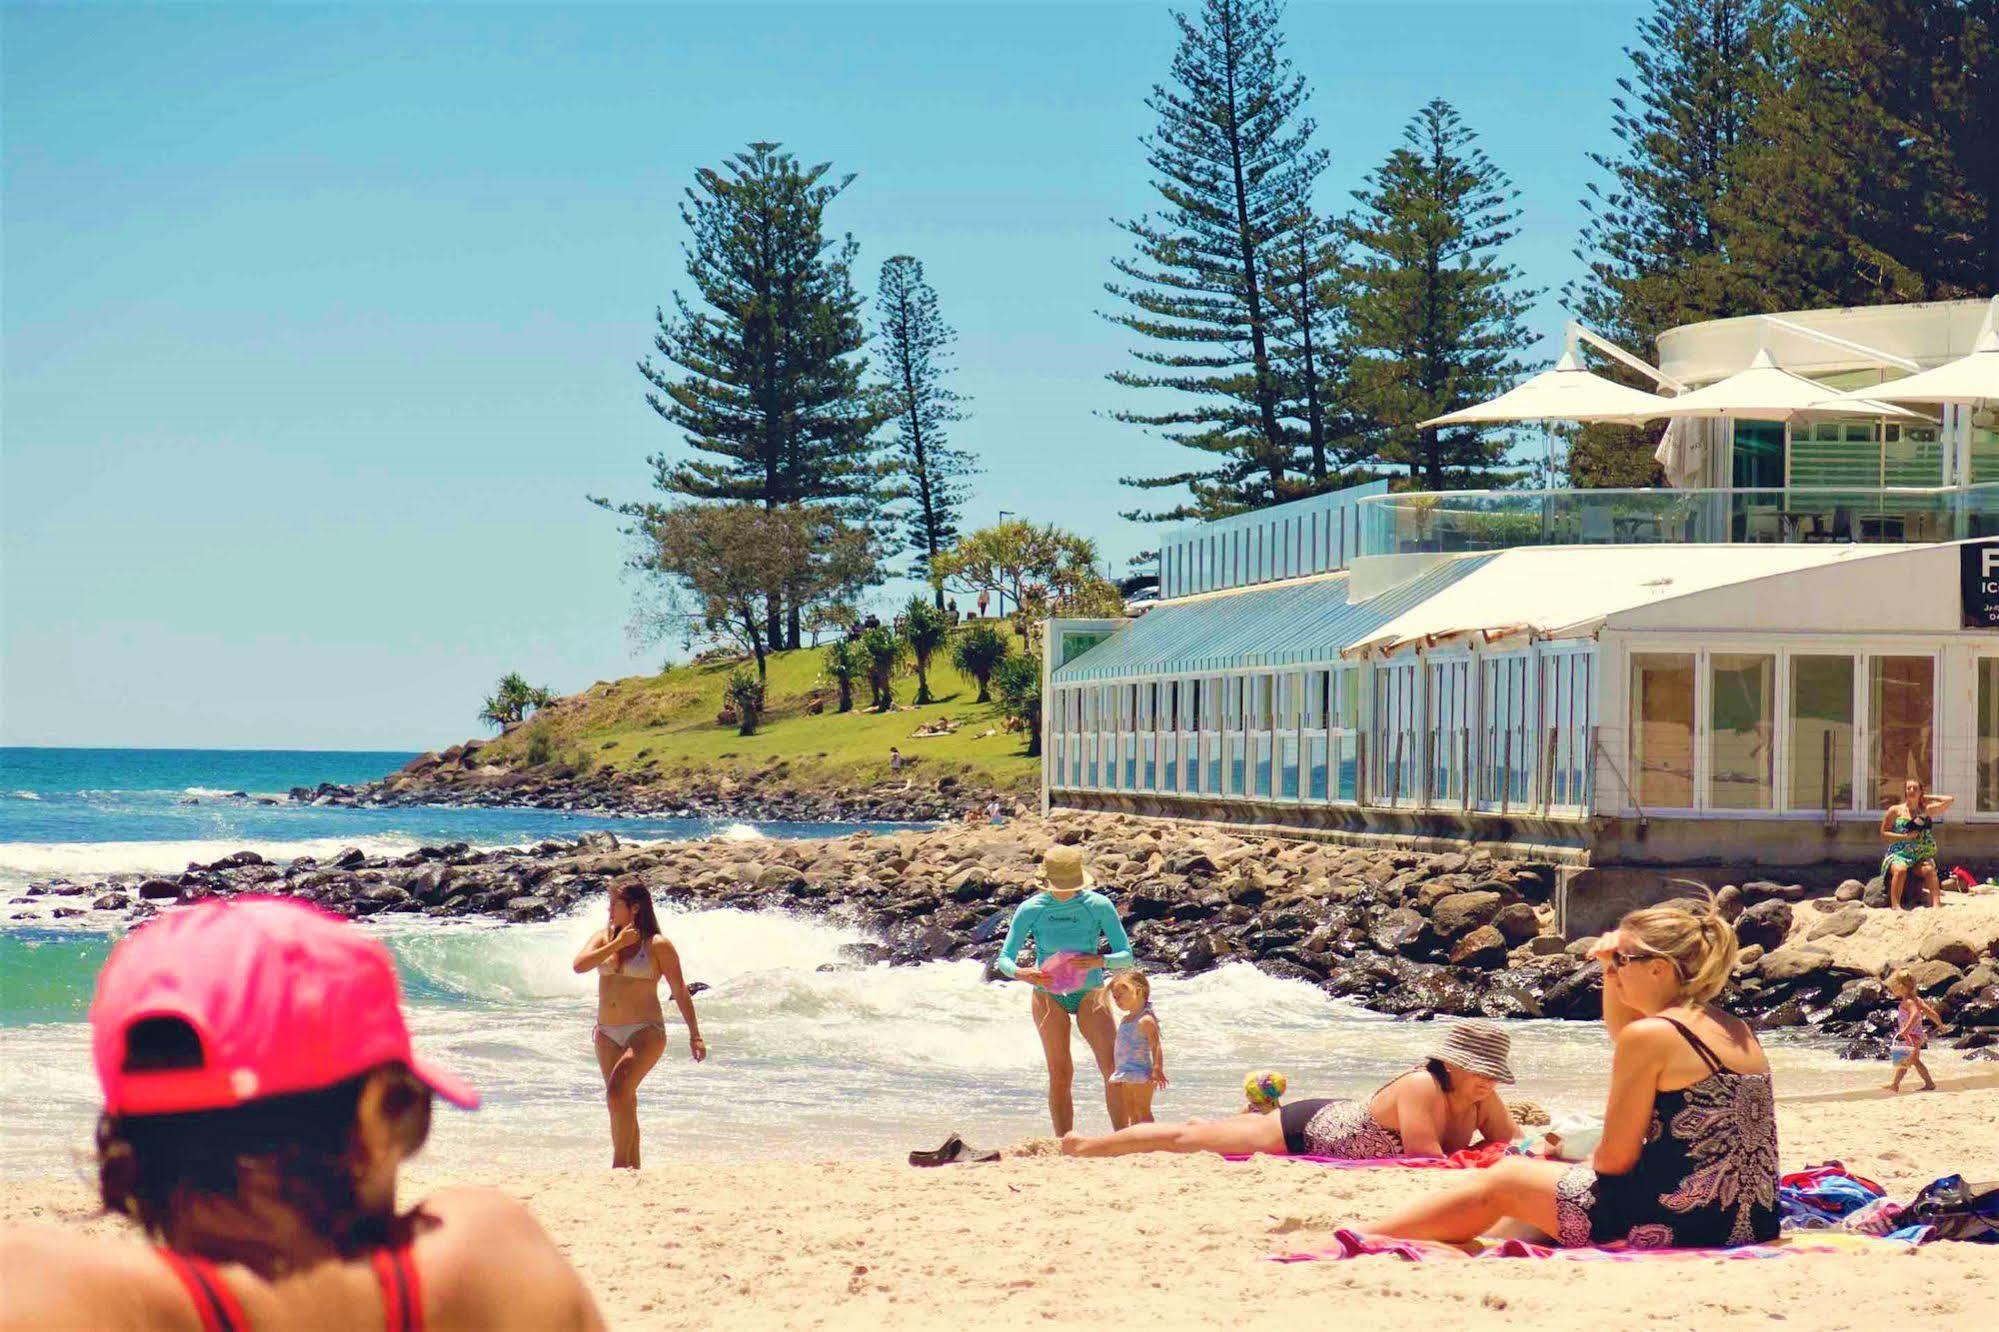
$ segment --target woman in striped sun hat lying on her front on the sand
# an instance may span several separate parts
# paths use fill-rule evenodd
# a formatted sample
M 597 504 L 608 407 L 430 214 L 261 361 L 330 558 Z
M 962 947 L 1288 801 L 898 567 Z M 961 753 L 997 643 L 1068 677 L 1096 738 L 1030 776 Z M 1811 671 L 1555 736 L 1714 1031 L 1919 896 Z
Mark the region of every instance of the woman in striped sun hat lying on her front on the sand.
M 1499 1100 L 1513 1082 L 1507 1054 L 1513 1040 L 1491 1022 L 1459 1022 L 1413 1068 L 1367 1100 L 1293 1100 L 1277 1114 L 1233 1114 L 1191 1124 L 1133 1124 L 1103 1138 L 1065 1134 L 1069 1156 L 1129 1152 L 1221 1152 L 1247 1156 L 1449 1156 L 1473 1144 L 1519 1136 Z

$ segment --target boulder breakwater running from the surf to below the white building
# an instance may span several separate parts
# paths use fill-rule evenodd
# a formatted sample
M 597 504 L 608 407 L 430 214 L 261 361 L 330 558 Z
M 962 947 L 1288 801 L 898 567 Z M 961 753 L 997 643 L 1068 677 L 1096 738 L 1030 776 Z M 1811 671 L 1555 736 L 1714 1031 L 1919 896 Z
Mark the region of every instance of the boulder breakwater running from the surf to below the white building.
M 144 918 L 210 896 L 278 892 L 346 916 L 530 922 L 638 874 L 662 902 L 860 924 L 880 942 L 852 948 L 854 964 L 990 960 L 1055 842 L 1083 846 L 1149 970 L 1193 974 L 1251 962 L 1407 1018 L 1595 1020 L 1601 1012 L 1591 940 L 1553 932 L 1553 866 L 1485 850 L 1343 848 L 1117 814 L 820 840 L 622 844 L 590 832 L 526 848 L 454 842 L 388 858 L 356 848 L 288 864 L 236 852 L 172 876 L 36 882 L 14 898 L 12 914 Z M 1881 972 L 1907 964 L 1953 1022 L 1949 1044 L 1999 1044 L 1999 902 L 1891 914 L 1869 904 L 1877 896 L 1879 882 L 1857 880 L 1821 896 L 1767 880 L 1723 888 L 1723 910 L 1743 944 L 1729 1006 L 1765 1028 L 1811 1028 L 1841 1038 L 1845 1054 L 1879 1058 L 1893 1016 Z

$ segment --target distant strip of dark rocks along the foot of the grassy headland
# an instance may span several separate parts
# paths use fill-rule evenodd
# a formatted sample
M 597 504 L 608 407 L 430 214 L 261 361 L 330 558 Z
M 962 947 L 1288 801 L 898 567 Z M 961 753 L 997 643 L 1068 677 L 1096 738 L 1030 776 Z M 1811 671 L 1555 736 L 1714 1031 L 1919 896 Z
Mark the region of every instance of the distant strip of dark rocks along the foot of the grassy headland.
M 660 774 L 650 768 L 562 766 L 506 768 L 480 760 L 480 740 L 420 754 L 402 770 L 376 782 L 294 786 L 298 804 L 396 808 L 452 804 L 484 808 L 588 810 L 594 814 L 646 814 L 656 818 L 740 818 L 796 824 L 924 824 L 964 816 L 1000 796 L 1007 806 L 1017 794 L 996 792 L 956 774 L 910 776 L 860 788 L 826 790 L 792 780 L 790 766 L 732 774 Z

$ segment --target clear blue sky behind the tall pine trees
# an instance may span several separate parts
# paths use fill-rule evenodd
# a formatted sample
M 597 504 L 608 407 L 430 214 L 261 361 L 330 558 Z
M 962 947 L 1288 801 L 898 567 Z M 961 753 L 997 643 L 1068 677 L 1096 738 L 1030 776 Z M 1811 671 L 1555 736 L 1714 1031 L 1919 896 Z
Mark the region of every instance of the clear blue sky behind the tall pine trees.
M 654 668 L 622 542 L 678 450 L 634 362 L 680 190 L 754 138 L 858 180 L 960 330 L 970 518 L 1149 530 L 1101 414 L 1113 216 L 1151 206 L 1163 4 L 18 6 L 0 18 L 0 738 L 424 748 L 504 670 Z M 1431 96 L 1575 274 L 1641 6 L 1295 0 L 1327 206 Z M 884 600 L 888 600 L 884 592 Z

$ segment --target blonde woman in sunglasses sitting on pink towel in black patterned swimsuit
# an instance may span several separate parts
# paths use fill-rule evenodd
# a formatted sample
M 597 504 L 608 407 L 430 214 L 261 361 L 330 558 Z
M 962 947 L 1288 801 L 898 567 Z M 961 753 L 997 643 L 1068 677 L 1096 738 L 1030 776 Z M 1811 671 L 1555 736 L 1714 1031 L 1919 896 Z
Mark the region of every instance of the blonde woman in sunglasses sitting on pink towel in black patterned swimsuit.
M 1571 1246 L 1777 1236 L 1769 1060 L 1745 1022 L 1711 1004 L 1735 966 L 1735 932 L 1711 902 L 1651 906 L 1625 916 L 1595 956 L 1615 1052 L 1591 1162 L 1509 1158 L 1371 1234 L 1461 1244 L 1513 1218 Z

